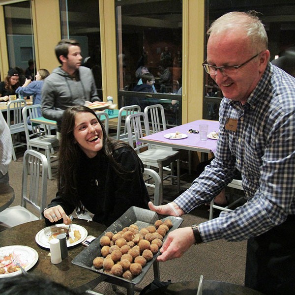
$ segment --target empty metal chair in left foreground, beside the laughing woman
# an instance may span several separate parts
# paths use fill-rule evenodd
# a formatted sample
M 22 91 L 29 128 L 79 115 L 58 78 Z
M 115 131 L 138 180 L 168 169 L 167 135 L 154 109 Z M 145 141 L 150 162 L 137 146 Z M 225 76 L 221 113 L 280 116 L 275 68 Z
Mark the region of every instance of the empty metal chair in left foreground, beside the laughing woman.
M 0 212 L 1 223 L 13 227 L 42 218 L 41 213 L 47 205 L 47 174 L 46 157 L 38 151 L 27 149 L 23 160 L 22 205 L 8 207 Z M 27 209 L 27 204 L 34 207 L 39 215 L 31 213 Z

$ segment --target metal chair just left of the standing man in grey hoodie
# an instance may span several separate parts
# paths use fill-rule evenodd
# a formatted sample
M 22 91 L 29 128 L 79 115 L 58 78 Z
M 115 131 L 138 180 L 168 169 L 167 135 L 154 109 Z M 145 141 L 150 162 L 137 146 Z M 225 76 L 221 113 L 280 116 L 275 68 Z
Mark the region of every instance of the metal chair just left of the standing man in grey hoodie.
M 59 140 L 55 135 L 48 134 L 47 128 L 43 125 L 32 124 L 31 131 L 29 130 L 28 125 L 28 118 L 38 118 L 37 109 L 40 107 L 40 105 L 30 105 L 23 108 L 27 148 L 41 148 L 45 150 L 45 155 L 48 161 L 48 178 L 52 179 L 51 163 L 57 160 L 57 156 L 53 156 L 52 154 L 54 148 L 59 147 Z

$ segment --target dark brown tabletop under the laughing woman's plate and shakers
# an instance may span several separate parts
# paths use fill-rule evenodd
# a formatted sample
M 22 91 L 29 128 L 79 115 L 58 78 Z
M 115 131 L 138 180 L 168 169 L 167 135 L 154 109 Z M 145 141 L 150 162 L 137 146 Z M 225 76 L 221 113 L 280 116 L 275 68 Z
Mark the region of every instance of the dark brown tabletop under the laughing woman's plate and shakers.
M 79 224 L 87 229 L 88 235 L 99 236 L 106 230 L 106 226 L 93 221 L 74 219 L 73 223 Z M 75 266 L 71 263 L 83 249 L 82 244 L 68 249 L 68 257 L 60 264 L 54 265 L 48 256 L 49 249 L 41 248 L 35 241 L 36 234 L 45 228 L 45 220 L 36 220 L 24 223 L 0 232 L 0 247 L 9 245 L 26 245 L 35 249 L 39 255 L 39 260 L 29 272 L 48 277 L 66 287 L 75 289 L 78 293 L 83 293 L 89 288 L 94 288 L 101 281 L 100 275 L 89 269 Z

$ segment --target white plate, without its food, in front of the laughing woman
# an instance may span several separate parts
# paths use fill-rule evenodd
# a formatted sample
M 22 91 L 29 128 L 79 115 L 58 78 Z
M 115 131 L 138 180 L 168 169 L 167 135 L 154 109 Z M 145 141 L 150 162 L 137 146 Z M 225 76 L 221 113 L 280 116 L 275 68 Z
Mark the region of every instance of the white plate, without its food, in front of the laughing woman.
M 60 224 L 56 224 L 55 226 L 57 227 L 68 227 L 68 225 L 65 225 L 64 223 L 60 223 Z M 81 242 L 83 242 L 85 240 L 85 238 L 88 236 L 87 230 L 78 224 L 72 224 L 71 225 L 71 229 L 70 229 L 70 237 L 74 238 L 74 231 L 78 230 L 81 234 L 80 239 L 78 239 L 76 242 L 74 243 L 70 243 L 69 239 L 66 241 L 66 245 L 68 247 L 72 247 L 75 246 L 77 244 L 80 244 Z M 37 233 L 37 235 L 35 236 L 35 241 L 37 242 L 37 244 L 41 247 L 50 249 L 50 245 L 49 245 L 49 237 L 52 235 L 51 230 L 50 230 L 50 226 L 46 227 L 45 229 L 39 231 Z

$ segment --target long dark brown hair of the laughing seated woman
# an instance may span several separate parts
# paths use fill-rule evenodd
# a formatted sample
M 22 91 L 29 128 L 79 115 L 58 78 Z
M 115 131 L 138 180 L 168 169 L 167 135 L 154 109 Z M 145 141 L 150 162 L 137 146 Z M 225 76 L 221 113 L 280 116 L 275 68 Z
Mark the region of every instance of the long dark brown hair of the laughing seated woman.
M 59 168 L 58 168 L 58 190 L 62 196 L 71 196 L 71 202 L 74 206 L 83 210 L 81 202 L 78 200 L 77 192 L 77 177 L 79 177 L 79 163 L 82 155 L 82 149 L 76 143 L 74 137 L 74 126 L 75 118 L 78 113 L 91 113 L 97 118 L 95 112 L 85 106 L 72 106 L 65 110 L 62 125 L 61 125 L 61 139 L 59 143 Z M 113 165 L 116 173 L 121 177 L 126 177 L 134 171 L 126 171 L 124 168 L 115 160 L 115 153 L 118 148 L 127 147 L 137 156 L 133 148 L 128 144 L 114 140 L 107 136 L 104 125 L 97 118 L 103 132 L 103 147 L 99 152 L 102 152 L 108 157 Z M 138 156 L 137 156 L 138 158 Z M 144 165 L 138 158 L 141 170 L 144 172 Z

